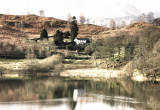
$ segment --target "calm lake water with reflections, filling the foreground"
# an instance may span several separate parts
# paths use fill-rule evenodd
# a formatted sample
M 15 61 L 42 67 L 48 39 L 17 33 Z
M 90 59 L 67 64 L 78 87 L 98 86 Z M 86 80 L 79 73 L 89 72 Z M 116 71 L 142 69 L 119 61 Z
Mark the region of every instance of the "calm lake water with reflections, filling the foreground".
M 0 80 L 0 110 L 159 110 L 159 102 L 159 84 L 129 79 Z

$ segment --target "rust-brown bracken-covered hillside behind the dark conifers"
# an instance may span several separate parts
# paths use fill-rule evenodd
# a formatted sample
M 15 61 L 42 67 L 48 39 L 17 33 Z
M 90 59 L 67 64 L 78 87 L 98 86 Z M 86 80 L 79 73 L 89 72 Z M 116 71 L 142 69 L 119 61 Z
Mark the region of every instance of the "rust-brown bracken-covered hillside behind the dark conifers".
M 91 35 L 93 38 L 101 38 L 101 32 L 108 30 L 91 24 L 78 24 L 79 38 Z M 49 35 L 53 35 L 58 29 L 69 31 L 67 21 L 52 17 L 40 17 L 36 15 L 0 15 L 0 38 L 2 40 L 38 38 L 45 28 Z

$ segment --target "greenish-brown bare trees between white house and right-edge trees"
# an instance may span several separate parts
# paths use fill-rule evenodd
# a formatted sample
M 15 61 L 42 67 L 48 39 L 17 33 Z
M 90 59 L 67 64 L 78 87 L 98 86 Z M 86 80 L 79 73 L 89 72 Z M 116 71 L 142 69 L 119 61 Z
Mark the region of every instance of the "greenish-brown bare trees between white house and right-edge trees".
M 119 32 L 115 37 L 107 36 L 103 40 L 92 41 L 85 51 L 92 55 L 95 66 L 102 64 L 106 68 L 114 69 L 133 59 L 136 42 L 136 38 L 127 32 Z M 99 62 L 100 59 L 103 60 Z

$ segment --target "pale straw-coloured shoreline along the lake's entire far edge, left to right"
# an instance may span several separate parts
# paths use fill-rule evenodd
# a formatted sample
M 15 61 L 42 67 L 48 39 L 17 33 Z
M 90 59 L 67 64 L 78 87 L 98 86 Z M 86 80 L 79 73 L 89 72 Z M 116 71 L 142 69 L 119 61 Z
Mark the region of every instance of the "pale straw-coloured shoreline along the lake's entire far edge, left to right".
M 19 71 L 22 72 L 22 71 Z M 22 78 L 22 75 L 19 75 L 18 70 L 16 72 L 3 74 L 0 77 L 8 77 L 8 78 Z M 48 75 L 47 75 L 48 74 Z M 49 72 L 47 74 L 39 74 L 38 76 L 57 76 L 53 72 Z M 152 78 L 147 78 L 146 76 L 140 74 L 138 71 L 134 72 L 132 76 L 129 76 L 122 70 L 106 70 L 99 68 L 85 68 L 85 69 L 73 69 L 73 70 L 63 70 L 60 74 L 60 77 L 71 78 L 71 79 L 80 79 L 80 80 L 109 80 L 109 79 L 123 79 L 130 78 L 133 81 L 137 82 L 146 82 L 153 81 Z M 35 76 L 37 77 L 37 76 Z M 160 82 L 160 78 L 155 81 Z

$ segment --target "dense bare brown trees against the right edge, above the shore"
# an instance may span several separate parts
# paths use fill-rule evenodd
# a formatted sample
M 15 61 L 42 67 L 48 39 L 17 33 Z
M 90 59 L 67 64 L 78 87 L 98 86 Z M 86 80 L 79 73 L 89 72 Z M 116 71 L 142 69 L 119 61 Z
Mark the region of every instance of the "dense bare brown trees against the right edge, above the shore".
M 160 29 L 156 26 L 146 27 L 136 34 L 139 39 L 136 50 L 137 68 L 146 75 L 160 72 Z

